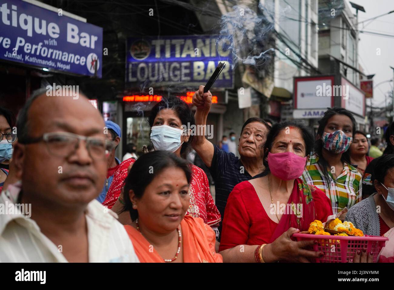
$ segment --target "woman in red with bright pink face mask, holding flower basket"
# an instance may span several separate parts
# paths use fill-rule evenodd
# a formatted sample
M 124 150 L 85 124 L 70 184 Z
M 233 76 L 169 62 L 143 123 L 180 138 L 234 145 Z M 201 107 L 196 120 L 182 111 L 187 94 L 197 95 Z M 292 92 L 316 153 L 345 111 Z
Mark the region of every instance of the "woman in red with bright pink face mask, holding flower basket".
M 224 262 L 308 262 L 323 255 L 303 249 L 315 241 L 291 239 L 332 214 L 328 197 L 299 178 L 312 147 L 313 136 L 301 123 L 271 128 L 264 145 L 267 175 L 237 184 L 227 201 L 219 246 Z

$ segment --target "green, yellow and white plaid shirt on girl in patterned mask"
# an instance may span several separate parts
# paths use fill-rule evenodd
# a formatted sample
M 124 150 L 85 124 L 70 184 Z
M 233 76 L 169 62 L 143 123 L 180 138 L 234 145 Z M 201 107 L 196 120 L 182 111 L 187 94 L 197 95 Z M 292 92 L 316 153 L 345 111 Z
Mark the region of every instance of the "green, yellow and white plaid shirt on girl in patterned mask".
M 333 214 L 337 214 L 345 207 L 349 209 L 361 201 L 362 176 L 355 167 L 344 162 L 342 173 L 334 180 L 331 171 L 327 170 L 329 180 L 326 180 L 318 160 L 319 157 L 316 154 L 310 156 L 302 179 L 307 184 L 314 185 L 325 192 L 331 200 Z

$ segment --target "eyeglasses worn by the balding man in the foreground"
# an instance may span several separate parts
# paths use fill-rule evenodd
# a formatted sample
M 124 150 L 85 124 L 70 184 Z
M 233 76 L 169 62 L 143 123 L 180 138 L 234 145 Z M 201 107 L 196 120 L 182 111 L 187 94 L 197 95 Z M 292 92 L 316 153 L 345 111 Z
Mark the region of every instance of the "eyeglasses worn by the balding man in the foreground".
M 93 159 L 104 159 L 115 147 L 112 141 L 99 137 L 86 137 L 67 132 L 45 133 L 41 137 L 19 140 L 22 144 L 32 144 L 44 141 L 48 152 L 58 157 L 68 157 L 79 147 L 80 140 L 86 142 L 86 150 Z

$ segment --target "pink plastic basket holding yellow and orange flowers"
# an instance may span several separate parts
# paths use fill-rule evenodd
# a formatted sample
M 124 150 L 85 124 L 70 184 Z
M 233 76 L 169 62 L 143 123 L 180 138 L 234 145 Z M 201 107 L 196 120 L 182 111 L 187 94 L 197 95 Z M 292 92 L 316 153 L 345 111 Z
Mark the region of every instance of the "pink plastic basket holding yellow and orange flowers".
M 326 236 L 322 234 L 293 234 L 297 241 L 317 240 L 318 244 L 305 247 L 311 251 L 322 251 L 324 256 L 314 258 L 315 263 L 346 263 L 352 259 L 355 253 L 361 249 L 366 249 L 367 253 L 372 251 L 374 262 L 377 255 L 385 246 L 388 238 L 378 236 Z

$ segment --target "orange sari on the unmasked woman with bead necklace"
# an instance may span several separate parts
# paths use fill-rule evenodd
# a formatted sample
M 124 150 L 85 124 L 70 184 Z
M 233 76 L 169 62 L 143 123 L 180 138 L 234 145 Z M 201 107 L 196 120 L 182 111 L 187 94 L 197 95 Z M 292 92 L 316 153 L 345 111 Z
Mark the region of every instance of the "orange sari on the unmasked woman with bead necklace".
M 183 261 L 185 263 L 221 263 L 223 258 L 215 252 L 215 232 L 200 217 L 185 216 L 182 229 Z M 141 263 L 164 263 L 164 260 L 134 227 L 125 225 Z

